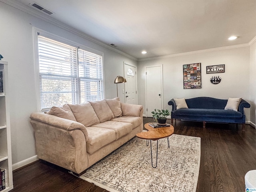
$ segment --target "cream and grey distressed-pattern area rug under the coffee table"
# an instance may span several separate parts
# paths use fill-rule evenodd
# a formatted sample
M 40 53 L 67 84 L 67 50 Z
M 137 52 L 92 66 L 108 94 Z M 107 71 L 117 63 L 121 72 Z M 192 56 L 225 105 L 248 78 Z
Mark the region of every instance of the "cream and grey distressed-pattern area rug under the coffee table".
M 110 192 L 196 192 L 201 138 L 173 134 L 158 140 L 157 167 L 150 144 L 132 140 L 91 166 L 80 178 Z M 156 141 L 152 141 L 153 163 Z

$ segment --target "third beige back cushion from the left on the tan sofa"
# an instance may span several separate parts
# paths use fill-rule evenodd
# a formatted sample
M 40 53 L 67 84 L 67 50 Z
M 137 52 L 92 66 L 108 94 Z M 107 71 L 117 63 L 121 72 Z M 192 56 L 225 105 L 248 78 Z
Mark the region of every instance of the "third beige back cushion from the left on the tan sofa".
M 90 101 L 90 104 L 96 112 L 100 122 L 109 121 L 114 118 L 114 114 L 105 100 Z

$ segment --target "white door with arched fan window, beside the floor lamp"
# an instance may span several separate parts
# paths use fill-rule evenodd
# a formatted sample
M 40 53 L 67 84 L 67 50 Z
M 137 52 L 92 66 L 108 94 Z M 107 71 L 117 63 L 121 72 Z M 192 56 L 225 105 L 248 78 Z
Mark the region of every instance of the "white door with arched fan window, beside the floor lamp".
M 137 104 L 137 90 L 136 90 L 136 67 L 124 64 L 124 93 L 125 102 L 129 104 Z

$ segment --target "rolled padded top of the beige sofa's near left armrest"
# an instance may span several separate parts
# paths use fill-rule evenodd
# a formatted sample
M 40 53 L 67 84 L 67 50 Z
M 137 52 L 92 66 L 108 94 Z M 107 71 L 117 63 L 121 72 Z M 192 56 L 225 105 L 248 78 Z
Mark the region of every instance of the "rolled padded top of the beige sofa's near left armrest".
M 86 127 L 79 122 L 75 122 L 72 120 L 60 118 L 45 113 L 32 113 L 30 114 L 30 119 L 42 122 L 44 124 L 48 124 L 50 126 L 58 127 L 67 131 L 79 129 L 83 132 L 86 142 L 88 141 L 88 132 L 86 130 Z

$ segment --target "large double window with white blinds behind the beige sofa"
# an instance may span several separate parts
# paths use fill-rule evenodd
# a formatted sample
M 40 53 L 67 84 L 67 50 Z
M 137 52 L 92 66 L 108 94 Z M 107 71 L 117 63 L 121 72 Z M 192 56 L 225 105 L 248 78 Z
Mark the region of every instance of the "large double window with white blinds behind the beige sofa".
M 103 99 L 102 56 L 38 35 L 41 108 Z

